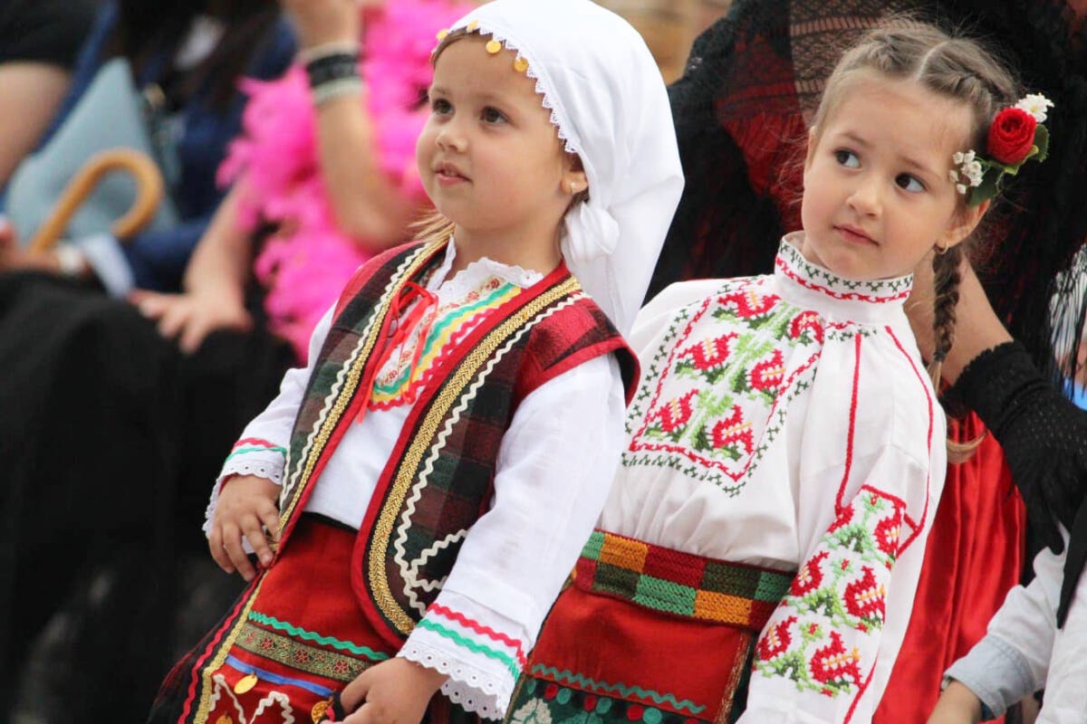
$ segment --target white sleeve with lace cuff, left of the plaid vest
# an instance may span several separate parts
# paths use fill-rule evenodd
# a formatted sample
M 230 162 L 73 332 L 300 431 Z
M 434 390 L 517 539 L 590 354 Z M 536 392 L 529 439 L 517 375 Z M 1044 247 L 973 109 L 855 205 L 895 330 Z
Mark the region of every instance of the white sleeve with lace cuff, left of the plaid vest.
M 218 492 L 223 482 L 230 475 L 257 475 L 271 480 L 276 485 L 283 484 L 284 463 L 287 459 L 287 446 L 290 444 L 290 432 L 295 427 L 298 408 L 305 394 L 305 385 L 313 372 L 313 360 L 325 343 L 325 336 L 332 327 L 334 308 L 329 308 L 321 318 L 313 334 L 310 336 L 310 361 L 305 367 L 287 370 L 279 383 L 279 394 L 267 407 L 242 430 L 238 442 L 230 448 L 230 454 L 223 462 L 223 469 L 212 487 L 211 500 L 204 513 L 204 535 L 211 533 L 211 520 L 218 504 Z

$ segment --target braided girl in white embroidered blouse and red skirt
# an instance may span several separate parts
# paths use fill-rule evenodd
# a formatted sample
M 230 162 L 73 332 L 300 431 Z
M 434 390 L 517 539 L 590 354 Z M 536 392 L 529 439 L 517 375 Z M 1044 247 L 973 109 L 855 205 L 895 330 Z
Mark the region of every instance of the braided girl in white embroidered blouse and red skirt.
M 977 46 L 925 25 L 844 56 L 775 274 L 675 284 L 638 318 L 622 468 L 512 721 L 736 721 L 745 688 L 745 722 L 871 721 L 945 474 L 903 302 L 932 255 L 938 376 L 987 209 L 974 179 L 1000 175 L 962 154 L 1013 99 Z

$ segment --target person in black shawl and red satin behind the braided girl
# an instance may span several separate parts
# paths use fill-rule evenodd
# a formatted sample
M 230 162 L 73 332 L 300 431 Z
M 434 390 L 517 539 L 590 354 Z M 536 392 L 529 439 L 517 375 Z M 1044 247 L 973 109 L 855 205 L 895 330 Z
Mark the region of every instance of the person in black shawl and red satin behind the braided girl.
M 1020 582 L 1026 516 L 1041 542 L 1060 548 L 1054 518 L 1071 530 L 1083 500 L 1087 414 L 1050 384 L 1049 367 L 1053 339 L 1078 339 L 1087 306 L 1062 283 L 1075 277 L 1061 274 L 1087 238 L 1078 191 L 1087 183 L 1087 8 L 1074 0 L 735 0 L 696 40 L 669 89 L 687 183 L 650 288 L 773 268 L 772 240 L 799 224 L 801 181 L 790 160 L 823 79 L 838 49 L 896 12 L 990 39 L 1026 87 L 1054 101 L 1047 126 L 1057 140 L 1045 164 L 1023 168 L 995 200 L 985 219 L 994 244 L 973 255 L 973 269 L 963 267 L 942 378 L 962 403 L 951 436 L 982 441 L 947 469 L 902 644 L 909 656 L 899 657 L 887 686 L 903 694 L 884 698 L 876 724 L 925 721 L 944 671 L 985 635 Z M 926 285 L 915 277 L 914 296 Z M 1051 299 L 1060 313 L 1052 319 Z M 920 299 L 907 304 L 926 359 L 930 309 Z M 1072 538 L 1064 601 L 1087 556 L 1087 524 Z

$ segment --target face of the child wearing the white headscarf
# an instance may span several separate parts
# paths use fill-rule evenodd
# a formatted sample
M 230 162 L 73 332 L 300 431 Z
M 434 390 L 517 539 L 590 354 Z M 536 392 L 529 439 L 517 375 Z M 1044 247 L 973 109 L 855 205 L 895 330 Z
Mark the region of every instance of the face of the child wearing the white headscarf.
M 415 149 L 423 187 L 458 242 L 553 244 L 571 201 L 569 156 L 536 81 L 514 69 L 513 52 L 488 53 L 486 40 L 458 40 L 437 60 Z

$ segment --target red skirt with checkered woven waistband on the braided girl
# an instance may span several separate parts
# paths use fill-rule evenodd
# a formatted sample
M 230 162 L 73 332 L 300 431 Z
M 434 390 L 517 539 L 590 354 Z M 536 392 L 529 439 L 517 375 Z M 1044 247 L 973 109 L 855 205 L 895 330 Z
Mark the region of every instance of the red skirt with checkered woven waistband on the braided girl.
M 555 601 L 508 721 L 727 722 L 791 573 L 597 531 Z M 547 716 L 542 715 L 545 712 Z

